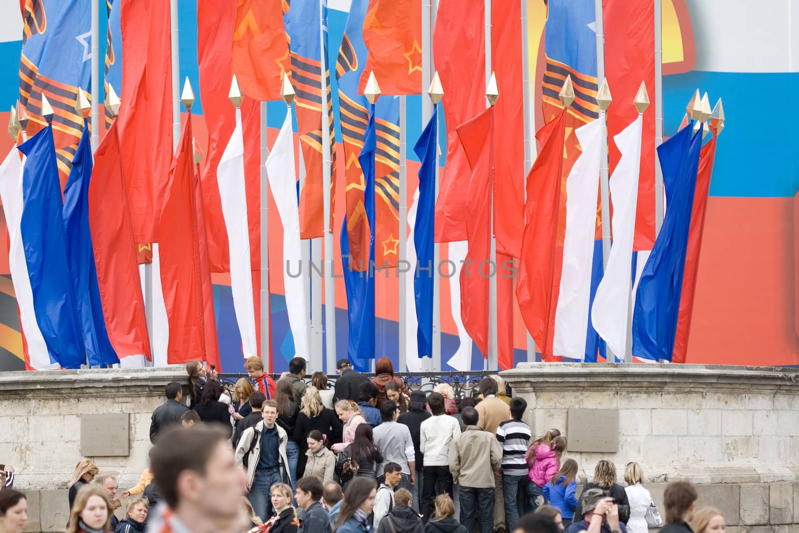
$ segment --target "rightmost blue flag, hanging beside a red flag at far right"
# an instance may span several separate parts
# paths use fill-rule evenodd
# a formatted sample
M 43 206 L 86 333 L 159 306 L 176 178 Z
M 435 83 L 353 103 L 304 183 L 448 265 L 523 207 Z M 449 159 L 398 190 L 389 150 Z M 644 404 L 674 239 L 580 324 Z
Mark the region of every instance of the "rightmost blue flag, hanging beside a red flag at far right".
M 643 359 L 671 360 L 674 352 L 702 148 L 702 129 L 693 138 L 692 130 L 693 123 L 658 146 L 668 206 L 635 296 L 633 355 Z

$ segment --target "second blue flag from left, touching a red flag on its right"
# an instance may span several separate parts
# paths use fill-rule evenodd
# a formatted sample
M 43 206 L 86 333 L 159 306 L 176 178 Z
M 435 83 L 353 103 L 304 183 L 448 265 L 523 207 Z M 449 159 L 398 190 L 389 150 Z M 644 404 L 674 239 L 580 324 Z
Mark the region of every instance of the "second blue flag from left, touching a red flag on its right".
M 92 149 L 89 126 L 83 129 L 78 151 L 72 161 L 70 179 L 64 188 L 64 228 L 70 261 L 72 289 L 78 306 L 78 320 L 89 364 L 119 363 L 105 329 L 105 318 L 97 285 L 92 235 L 89 231 L 89 181 L 92 177 Z

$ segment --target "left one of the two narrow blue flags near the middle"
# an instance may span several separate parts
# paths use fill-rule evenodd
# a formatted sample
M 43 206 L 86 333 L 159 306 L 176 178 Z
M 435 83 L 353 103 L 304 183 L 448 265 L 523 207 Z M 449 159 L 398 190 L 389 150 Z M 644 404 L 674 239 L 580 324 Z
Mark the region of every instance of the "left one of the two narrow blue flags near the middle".
M 347 355 L 358 372 L 369 372 L 369 361 L 375 358 L 375 105 L 369 113 L 364 133 L 364 149 L 358 162 L 364 169 L 366 189 L 364 207 L 369 225 L 369 265 L 365 272 L 350 269 L 347 221 L 341 226 L 341 262 L 344 265 L 344 287 L 347 288 L 349 343 Z

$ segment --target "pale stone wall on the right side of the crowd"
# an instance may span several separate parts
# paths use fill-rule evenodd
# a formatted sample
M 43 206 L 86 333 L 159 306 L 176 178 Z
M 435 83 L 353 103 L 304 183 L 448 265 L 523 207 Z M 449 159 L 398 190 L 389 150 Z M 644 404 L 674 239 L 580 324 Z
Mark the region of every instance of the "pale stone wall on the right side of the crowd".
M 573 424 L 618 419 L 615 451 L 567 452 L 583 483 L 607 459 L 623 484 L 626 463 L 637 461 L 661 509 L 666 484 L 690 479 L 700 505 L 721 509 L 733 532 L 799 531 L 796 370 L 525 363 L 501 375 L 527 400 L 536 435 L 550 428 L 567 433 L 570 417 Z

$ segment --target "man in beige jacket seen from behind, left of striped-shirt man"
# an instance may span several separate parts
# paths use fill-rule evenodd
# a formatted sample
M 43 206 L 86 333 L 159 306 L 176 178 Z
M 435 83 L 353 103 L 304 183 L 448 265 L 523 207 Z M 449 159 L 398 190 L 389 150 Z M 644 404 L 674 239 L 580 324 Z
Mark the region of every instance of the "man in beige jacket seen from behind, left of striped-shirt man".
M 502 467 L 502 447 L 494 433 L 477 425 L 475 408 L 461 412 L 466 428 L 452 440 L 449 468 L 454 483 L 460 485 L 460 523 L 475 531 L 475 511 L 480 515 L 480 533 L 494 530 L 494 487 Z

